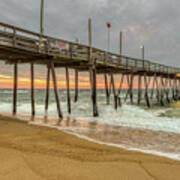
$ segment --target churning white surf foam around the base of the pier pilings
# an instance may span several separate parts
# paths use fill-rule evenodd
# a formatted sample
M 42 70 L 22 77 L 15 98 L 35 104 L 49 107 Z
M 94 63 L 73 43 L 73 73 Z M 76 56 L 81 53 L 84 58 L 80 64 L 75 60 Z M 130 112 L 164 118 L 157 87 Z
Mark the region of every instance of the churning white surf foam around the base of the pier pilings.
M 64 116 L 69 116 L 71 119 L 86 120 L 90 122 L 98 121 L 109 125 L 126 126 L 134 128 L 142 128 L 157 131 L 175 132 L 180 133 L 180 118 L 171 117 L 158 117 L 159 113 L 164 110 L 147 111 L 142 107 L 123 105 L 114 110 L 113 105 L 99 105 L 99 117 L 92 117 L 92 107 L 88 102 L 72 103 L 72 114 L 67 113 L 66 102 L 61 103 Z M 1 103 L 1 111 L 11 112 L 12 104 Z M 18 103 L 17 110 L 19 113 L 31 113 L 30 103 Z M 44 104 L 36 104 L 36 114 L 44 115 Z M 57 107 L 53 102 L 49 104 L 48 115 L 57 115 Z

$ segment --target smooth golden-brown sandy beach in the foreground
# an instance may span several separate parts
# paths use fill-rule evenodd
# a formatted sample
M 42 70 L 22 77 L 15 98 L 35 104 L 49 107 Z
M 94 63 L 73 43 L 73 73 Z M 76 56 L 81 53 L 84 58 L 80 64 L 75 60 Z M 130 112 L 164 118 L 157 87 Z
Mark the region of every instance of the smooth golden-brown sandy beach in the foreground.
M 0 116 L 0 179 L 178 180 L 180 162 Z

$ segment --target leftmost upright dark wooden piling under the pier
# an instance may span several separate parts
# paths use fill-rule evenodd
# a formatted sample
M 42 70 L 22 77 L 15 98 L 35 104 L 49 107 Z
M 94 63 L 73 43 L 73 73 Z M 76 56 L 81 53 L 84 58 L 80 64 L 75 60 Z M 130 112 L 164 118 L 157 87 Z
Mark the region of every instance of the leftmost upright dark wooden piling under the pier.
M 17 113 L 17 83 L 18 83 L 18 65 L 14 64 L 14 89 L 13 89 L 13 115 Z

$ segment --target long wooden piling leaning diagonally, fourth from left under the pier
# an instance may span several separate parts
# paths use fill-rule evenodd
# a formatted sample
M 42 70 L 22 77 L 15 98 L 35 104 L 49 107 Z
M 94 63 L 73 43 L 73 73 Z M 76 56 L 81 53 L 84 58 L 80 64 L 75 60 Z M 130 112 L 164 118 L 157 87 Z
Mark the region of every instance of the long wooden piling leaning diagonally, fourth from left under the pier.
M 56 99 L 58 116 L 59 116 L 60 119 L 62 119 L 63 115 L 62 115 L 62 112 L 61 112 L 60 101 L 59 101 L 59 96 L 58 96 L 56 73 L 55 73 L 55 70 L 54 70 L 54 63 L 51 62 L 50 65 L 51 65 L 52 79 L 53 79 L 53 84 L 54 84 L 54 94 L 55 94 L 55 99 Z

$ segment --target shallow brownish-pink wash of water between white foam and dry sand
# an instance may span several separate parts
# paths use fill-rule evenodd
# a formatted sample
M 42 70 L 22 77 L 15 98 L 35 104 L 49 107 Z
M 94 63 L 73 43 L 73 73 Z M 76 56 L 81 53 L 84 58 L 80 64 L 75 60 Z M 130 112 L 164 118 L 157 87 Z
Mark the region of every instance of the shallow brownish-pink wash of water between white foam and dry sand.
M 36 116 L 19 114 L 18 118 L 32 124 L 59 127 L 66 132 L 83 135 L 104 143 L 122 145 L 126 148 L 137 148 L 144 151 L 169 153 L 180 157 L 180 134 L 165 131 L 112 126 L 98 121 L 83 121 L 69 117 L 59 121 L 55 116 Z

